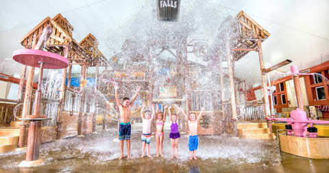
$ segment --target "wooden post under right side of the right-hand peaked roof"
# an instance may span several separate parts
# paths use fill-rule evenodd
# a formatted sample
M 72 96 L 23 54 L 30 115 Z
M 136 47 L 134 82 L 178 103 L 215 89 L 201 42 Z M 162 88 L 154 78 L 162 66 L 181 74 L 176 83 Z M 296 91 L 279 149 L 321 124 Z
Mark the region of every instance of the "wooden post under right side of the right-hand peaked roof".
M 262 73 L 262 84 L 263 84 L 263 94 L 264 94 L 264 104 L 265 104 L 264 113 L 265 113 L 265 118 L 268 118 L 269 117 L 269 97 L 267 95 L 266 76 L 265 76 L 265 73 L 263 73 L 265 67 L 264 67 L 262 42 L 260 40 L 257 41 L 257 47 L 258 47 L 260 71 Z M 270 130 L 272 132 L 272 125 L 269 120 L 267 120 L 267 127 L 270 128 Z

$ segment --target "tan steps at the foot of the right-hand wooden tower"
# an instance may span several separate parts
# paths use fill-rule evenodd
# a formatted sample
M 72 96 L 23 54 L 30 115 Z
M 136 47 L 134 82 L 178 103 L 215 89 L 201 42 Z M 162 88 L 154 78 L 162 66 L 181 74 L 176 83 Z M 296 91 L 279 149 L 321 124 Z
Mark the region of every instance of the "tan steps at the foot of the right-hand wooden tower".
M 241 139 L 275 139 L 266 123 L 237 124 Z

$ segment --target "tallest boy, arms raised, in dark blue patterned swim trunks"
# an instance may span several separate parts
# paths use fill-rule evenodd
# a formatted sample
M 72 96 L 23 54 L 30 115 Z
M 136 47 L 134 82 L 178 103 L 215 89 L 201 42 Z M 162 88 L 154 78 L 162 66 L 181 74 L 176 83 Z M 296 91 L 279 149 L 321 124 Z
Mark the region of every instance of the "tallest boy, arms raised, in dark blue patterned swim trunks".
M 136 88 L 136 93 L 134 95 L 134 98 L 132 99 L 132 102 L 130 102 L 130 99 L 128 97 L 123 98 L 123 103 L 120 103 L 119 97 L 118 97 L 118 84 L 114 84 L 115 89 L 115 101 L 117 102 L 117 105 L 120 110 L 120 122 L 118 121 L 118 130 L 119 130 L 119 141 L 120 141 L 120 152 L 121 155 L 119 159 L 123 158 L 123 146 L 124 146 L 124 140 L 127 140 L 127 157 L 128 159 L 132 158 L 130 157 L 130 112 L 132 111 L 132 105 L 135 102 L 135 99 L 137 97 L 138 91 L 141 89 L 141 87 Z

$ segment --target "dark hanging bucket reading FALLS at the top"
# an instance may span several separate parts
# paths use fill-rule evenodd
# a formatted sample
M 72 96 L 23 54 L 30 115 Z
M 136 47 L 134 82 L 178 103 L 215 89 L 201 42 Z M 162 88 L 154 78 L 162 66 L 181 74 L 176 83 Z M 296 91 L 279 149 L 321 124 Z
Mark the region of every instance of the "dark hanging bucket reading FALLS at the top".
M 177 22 L 180 16 L 180 0 L 158 0 L 158 21 Z

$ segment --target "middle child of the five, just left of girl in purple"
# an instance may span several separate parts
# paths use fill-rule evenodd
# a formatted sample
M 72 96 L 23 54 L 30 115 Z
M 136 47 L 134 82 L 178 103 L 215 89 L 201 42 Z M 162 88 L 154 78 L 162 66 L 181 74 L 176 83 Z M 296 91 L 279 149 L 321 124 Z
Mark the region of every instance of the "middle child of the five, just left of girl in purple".
M 159 157 L 159 150 L 160 150 L 160 155 L 163 157 L 162 154 L 162 142 L 163 142 L 163 137 L 164 137 L 164 132 L 163 132 L 163 126 L 164 126 L 164 120 L 166 120 L 166 108 L 168 106 L 164 106 L 164 113 L 159 112 L 159 107 L 156 106 L 156 132 L 154 132 L 156 136 L 156 157 Z

